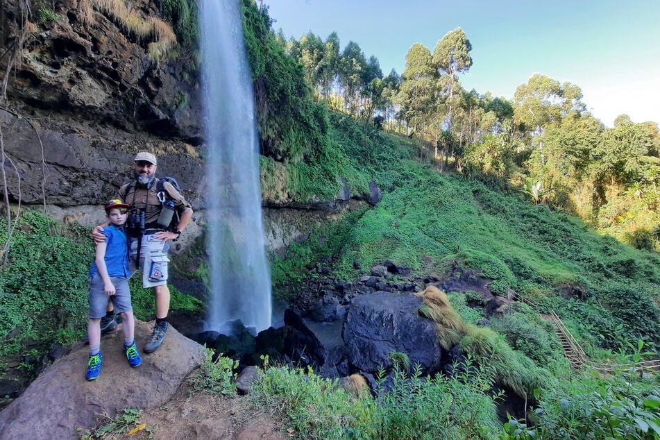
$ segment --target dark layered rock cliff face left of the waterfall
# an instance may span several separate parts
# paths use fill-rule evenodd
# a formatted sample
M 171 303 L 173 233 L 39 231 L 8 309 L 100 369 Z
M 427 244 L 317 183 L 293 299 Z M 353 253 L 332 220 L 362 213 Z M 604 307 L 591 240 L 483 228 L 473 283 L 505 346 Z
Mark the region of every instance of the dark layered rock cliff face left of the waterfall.
M 155 37 L 136 37 L 96 3 L 102 2 L 55 1 L 56 18 L 41 24 L 23 21 L 22 0 L 0 4 L 6 48 L 0 73 L 11 68 L 0 110 L 10 200 L 98 205 L 130 177 L 134 153 L 146 149 L 159 155 L 159 174 L 174 175 L 198 203 L 195 72 L 181 58 L 153 58 Z M 153 2 L 132 3 L 133 19 L 164 24 Z

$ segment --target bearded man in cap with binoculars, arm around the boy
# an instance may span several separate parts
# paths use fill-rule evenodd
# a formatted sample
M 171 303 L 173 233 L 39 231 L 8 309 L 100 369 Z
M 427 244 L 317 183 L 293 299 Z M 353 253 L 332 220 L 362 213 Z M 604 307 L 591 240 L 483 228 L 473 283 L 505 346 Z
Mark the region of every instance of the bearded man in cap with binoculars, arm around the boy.
M 145 353 L 153 353 L 167 334 L 167 314 L 169 312 L 169 288 L 167 287 L 167 269 L 169 259 L 170 241 L 176 241 L 192 219 L 192 207 L 185 201 L 171 183 L 164 181 L 158 184 L 155 172 L 158 169 L 158 160 L 155 155 L 142 151 L 135 155 L 133 172 L 135 181 L 119 188 L 115 198 L 128 203 L 131 208 L 132 222 L 128 224 L 130 239 L 131 274 L 137 269 L 142 271 L 142 287 L 153 287 L 155 296 L 156 323 L 151 338 L 144 345 Z M 159 192 L 162 187 L 162 192 Z M 168 214 L 163 210 L 171 209 L 167 206 L 174 204 L 174 210 L 179 214 L 178 224 L 168 228 L 163 224 L 161 214 Z M 102 225 L 103 226 L 103 225 Z M 105 241 L 101 227 L 97 226 L 93 232 L 94 242 Z M 139 254 L 139 259 L 138 259 Z M 137 266 L 137 267 L 136 267 Z M 109 307 L 110 309 L 110 307 Z M 112 310 L 108 311 L 105 322 L 101 328 L 108 326 L 108 321 L 114 321 Z M 112 324 L 110 324 L 112 325 Z M 114 324 L 117 325 L 116 322 Z

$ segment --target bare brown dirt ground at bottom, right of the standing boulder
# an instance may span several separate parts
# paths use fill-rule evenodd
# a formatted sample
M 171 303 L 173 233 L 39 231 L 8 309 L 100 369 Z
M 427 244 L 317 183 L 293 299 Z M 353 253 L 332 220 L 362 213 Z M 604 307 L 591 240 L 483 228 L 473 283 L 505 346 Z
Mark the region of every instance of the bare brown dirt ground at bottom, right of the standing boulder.
M 198 391 L 191 394 L 189 380 L 160 408 L 142 413 L 133 434 L 112 432 L 103 439 L 186 440 L 232 439 L 277 440 L 295 437 L 279 432 L 282 426 L 249 396 L 222 396 Z

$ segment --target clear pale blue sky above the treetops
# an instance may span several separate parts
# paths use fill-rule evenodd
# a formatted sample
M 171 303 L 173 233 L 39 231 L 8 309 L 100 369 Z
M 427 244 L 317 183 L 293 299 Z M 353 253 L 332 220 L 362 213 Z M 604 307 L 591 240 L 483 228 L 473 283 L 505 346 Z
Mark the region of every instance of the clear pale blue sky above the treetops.
M 384 74 L 402 73 L 415 42 L 431 51 L 460 27 L 472 43 L 466 89 L 511 99 L 540 73 L 582 88 L 611 126 L 622 113 L 660 123 L 660 0 L 264 0 L 273 28 L 353 40 Z

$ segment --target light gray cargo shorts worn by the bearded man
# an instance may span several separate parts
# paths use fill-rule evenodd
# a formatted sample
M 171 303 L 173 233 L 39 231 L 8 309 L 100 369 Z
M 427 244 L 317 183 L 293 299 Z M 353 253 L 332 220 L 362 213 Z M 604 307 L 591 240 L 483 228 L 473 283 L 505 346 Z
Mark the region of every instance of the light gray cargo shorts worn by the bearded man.
M 142 271 L 142 287 L 154 287 L 167 284 L 169 242 L 154 237 L 153 234 L 142 236 L 139 249 L 139 270 Z M 137 239 L 130 239 L 130 275 L 135 271 L 137 257 Z

